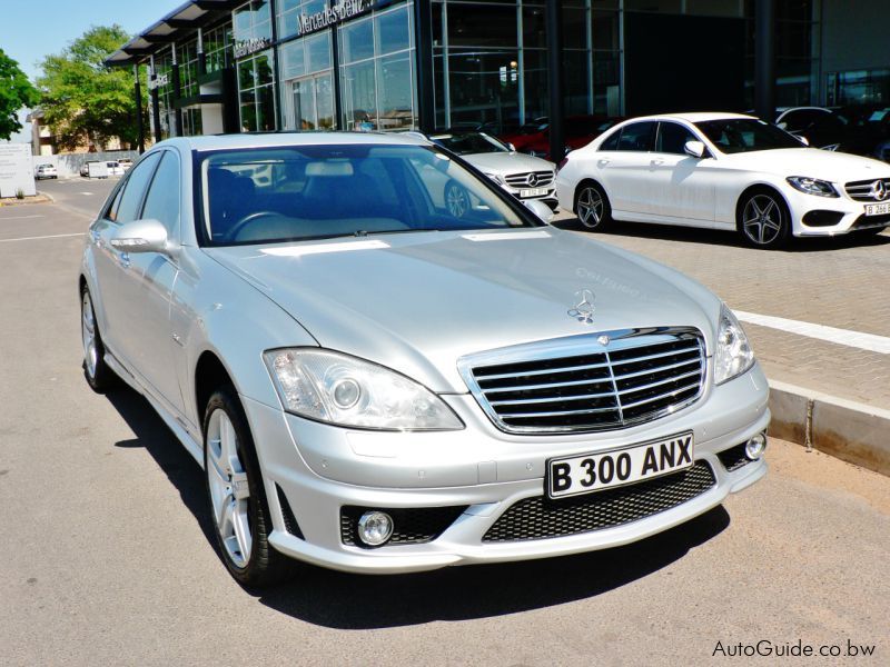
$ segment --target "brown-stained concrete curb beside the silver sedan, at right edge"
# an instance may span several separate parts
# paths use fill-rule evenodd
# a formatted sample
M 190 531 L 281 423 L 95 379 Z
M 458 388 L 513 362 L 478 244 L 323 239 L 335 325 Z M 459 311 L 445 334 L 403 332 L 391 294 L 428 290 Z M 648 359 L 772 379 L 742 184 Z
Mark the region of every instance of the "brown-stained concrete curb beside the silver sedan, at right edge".
M 770 436 L 890 476 L 890 410 L 770 380 Z

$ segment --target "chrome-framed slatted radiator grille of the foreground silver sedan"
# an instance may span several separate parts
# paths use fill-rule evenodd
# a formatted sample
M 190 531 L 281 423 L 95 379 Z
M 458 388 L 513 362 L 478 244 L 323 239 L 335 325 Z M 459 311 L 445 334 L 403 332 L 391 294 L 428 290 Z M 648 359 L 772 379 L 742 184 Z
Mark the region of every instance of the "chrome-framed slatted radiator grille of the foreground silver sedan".
M 464 357 L 458 366 L 500 429 L 565 432 L 620 429 L 674 412 L 701 396 L 706 364 L 701 334 L 674 328 L 517 346 Z

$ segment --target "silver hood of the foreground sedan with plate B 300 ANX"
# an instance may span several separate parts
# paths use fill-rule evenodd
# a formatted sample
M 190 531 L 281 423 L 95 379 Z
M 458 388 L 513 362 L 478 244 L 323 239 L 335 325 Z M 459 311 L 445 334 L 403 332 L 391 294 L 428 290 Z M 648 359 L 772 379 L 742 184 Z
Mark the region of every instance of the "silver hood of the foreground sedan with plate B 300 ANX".
M 720 301 L 633 253 L 554 228 L 416 232 L 208 248 L 319 345 L 438 392 L 466 392 L 457 359 L 535 340 L 693 326 L 710 341 Z M 594 293 L 593 325 L 568 315 Z

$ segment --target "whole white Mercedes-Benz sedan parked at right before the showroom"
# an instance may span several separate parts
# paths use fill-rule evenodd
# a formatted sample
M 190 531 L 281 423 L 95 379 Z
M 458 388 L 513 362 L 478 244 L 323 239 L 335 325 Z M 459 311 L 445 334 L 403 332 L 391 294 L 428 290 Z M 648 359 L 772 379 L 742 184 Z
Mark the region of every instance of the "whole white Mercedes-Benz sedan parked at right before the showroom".
M 590 229 L 621 220 L 738 230 L 756 248 L 890 226 L 890 165 L 808 148 L 738 113 L 627 120 L 568 155 L 556 193 Z

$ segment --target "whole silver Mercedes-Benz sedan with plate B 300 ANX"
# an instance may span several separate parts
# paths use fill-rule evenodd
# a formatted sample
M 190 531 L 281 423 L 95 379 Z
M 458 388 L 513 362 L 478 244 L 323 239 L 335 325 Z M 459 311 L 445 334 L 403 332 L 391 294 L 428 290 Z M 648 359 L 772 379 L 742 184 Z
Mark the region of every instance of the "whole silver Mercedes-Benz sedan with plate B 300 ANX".
M 160 142 L 90 226 L 87 381 L 145 395 L 251 586 L 612 547 L 762 477 L 732 311 L 530 209 L 421 138 Z

